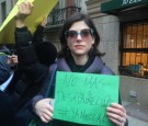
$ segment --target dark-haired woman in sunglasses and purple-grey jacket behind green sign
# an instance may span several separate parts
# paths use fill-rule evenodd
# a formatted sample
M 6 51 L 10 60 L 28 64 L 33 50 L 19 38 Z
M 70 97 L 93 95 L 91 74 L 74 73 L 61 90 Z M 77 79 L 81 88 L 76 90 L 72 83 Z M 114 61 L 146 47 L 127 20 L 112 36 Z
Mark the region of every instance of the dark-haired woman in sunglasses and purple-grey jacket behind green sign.
M 113 71 L 101 59 L 102 54 L 98 50 L 99 43 L 100 37 L 91 19 L 88 15 L 75 13 L 66 21 L 61 31 L 61 51 L 57 60 L 57 69 L 59 71 L 113 75 Z M 53 118 L 54 108 L 48 104 L 50 101 L 52 99 L 42 99 L 39 95 L 38 99 L 36 96 L 33 100 L 34 112 L 45 123 Z M 117 126 L 124 126 L 126 110 L 121 104 L 112 103 L 111 107 L 107 107 L 107 117 Z M 52 126 L 59 125 L 73 126 L 76 124 L 53 119 Z

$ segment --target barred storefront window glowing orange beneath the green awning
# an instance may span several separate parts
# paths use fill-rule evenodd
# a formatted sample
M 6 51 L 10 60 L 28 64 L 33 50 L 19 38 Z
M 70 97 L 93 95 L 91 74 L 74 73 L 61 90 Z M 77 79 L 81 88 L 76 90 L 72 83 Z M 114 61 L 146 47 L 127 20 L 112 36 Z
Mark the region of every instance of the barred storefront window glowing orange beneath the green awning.
M 122 26 L 121 75 L 148 78 L 148 22 Z

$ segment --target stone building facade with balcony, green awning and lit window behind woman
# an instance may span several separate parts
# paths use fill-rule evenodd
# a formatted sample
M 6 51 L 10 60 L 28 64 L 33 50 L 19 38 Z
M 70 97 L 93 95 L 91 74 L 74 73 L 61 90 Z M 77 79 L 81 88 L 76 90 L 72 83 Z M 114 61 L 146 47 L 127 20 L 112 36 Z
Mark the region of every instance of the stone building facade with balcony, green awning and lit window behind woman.
M 0 24 L 16 0 L 0 0 Z M 57 49 L 65 20 L 73 12 L 90 14 L 99 31 L 104 62 L 121 78 L 123 99 L 148 105 L 148 0 L 59 0 L 45 32 Z

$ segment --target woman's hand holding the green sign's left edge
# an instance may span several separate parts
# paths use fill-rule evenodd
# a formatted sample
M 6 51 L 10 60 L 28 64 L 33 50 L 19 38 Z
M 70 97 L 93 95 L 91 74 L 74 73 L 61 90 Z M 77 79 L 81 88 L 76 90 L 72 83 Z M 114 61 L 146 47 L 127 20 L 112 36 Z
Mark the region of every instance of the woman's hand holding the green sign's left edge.
M 54 107 L 49 104 L 52 99 L 43 99 L 36 102 L 34 108 L 35 113 L 41 117 L 44 123 L 53 119 Z

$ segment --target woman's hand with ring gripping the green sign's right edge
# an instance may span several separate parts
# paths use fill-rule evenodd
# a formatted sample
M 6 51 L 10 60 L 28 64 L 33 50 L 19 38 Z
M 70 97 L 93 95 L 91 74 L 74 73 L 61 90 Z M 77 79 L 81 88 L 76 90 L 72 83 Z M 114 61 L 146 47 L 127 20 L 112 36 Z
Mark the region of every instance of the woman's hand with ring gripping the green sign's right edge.
M 107 107 L 107 117 L 116 124 L 117 126 L 124 126 L 126 123 L 126 110 L 117 103 L 112 103 L 110 107 Z

